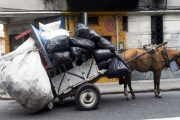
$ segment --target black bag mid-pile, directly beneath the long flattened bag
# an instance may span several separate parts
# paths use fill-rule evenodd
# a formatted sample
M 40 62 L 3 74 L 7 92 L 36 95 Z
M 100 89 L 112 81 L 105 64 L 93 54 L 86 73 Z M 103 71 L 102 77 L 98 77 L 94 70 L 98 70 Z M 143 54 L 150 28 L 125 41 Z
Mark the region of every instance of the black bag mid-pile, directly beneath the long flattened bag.
M 70 47 L 70 53 L 71 53 L 71 56 L 74 58 L 81 57 L 82 54 L 86 54 L 86 53 L 90 54 L 88 50 L 81 47 Z

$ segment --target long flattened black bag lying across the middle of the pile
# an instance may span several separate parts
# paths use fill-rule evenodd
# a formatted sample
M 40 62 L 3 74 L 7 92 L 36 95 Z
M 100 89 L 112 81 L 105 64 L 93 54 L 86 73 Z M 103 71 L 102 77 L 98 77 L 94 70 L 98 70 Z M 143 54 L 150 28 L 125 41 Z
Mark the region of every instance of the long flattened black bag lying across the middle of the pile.
M 95 43 L 92 40 L 85 39 L 85 38 L 71 37 L 70 44 L 71 44 L 71 46 L 82 47 L 91 52 L 95 49 Z

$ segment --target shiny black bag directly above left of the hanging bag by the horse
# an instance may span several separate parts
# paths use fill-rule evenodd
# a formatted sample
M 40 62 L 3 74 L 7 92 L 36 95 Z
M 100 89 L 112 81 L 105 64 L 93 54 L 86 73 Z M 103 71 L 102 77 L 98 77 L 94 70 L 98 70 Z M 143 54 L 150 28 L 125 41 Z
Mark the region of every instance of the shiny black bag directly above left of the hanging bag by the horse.
M 114 56 L 114 53 L 112 53 L 109 49 L 94 50 L 94 58 L 96 62 L 101 62 L 101 61 L 110 59 L 113 56 Z

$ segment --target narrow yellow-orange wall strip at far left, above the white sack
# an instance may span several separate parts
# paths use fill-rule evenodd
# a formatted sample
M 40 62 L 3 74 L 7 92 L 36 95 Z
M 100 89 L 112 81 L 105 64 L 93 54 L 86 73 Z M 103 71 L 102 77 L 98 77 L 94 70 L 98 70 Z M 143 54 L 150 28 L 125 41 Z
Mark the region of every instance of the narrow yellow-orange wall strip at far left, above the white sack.
M 7 54 L 10 52 L 8 25 L 7 24 L 4 24 L 4 40 L 5 40 L 5 53 Z

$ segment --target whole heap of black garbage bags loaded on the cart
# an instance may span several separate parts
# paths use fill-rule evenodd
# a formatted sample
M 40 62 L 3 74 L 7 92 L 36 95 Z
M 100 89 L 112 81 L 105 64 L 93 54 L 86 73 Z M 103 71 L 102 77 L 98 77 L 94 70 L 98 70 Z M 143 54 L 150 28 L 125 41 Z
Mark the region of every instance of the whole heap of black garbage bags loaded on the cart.
M 89 58 L 96 60 L 100 70 L 108 70 L 109 78 L 119 78 L 131 72 L 129 66 L 116 51 L 116 47 L 94 30 L 80 23 L 74 37 L 56 36 L 45 44 L 53 67 L 61 72 L 80 65 Z

